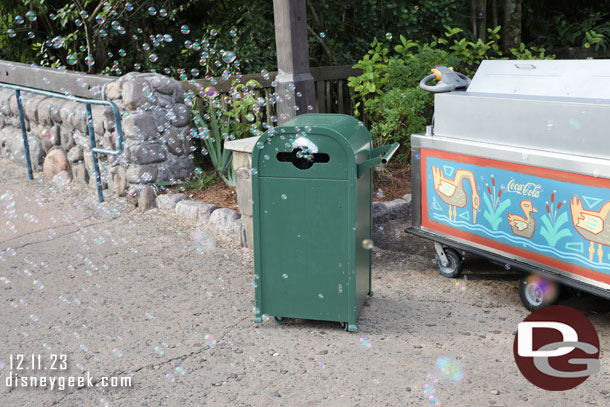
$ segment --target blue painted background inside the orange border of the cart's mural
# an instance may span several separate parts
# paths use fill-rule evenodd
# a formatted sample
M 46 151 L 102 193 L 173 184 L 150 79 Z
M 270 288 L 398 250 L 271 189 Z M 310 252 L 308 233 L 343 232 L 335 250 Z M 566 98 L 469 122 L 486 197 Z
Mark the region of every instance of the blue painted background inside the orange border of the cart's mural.
M 604 239 L 608 238 L 610 242 L 610 211 L 606 211 L 610 206 L 608 189 L 438 157 L 427 157 L 426 170 L 428 216 L 431 220 L 503 244 L 610 274 L 610 247 L 602 245 L 603 255 L 600 263 L 599 244 L 596 241 L 593 259 L 590 260 L 591 243 L 578 233 L 571 213 L 572 200 L 576 196 L 574 205 L 582 206 L 581 213 L 586 218 L 576 223 L 596 232 L 601 228 L 596 239 L 605 241 Z M 535 168 L 532 167 L 532 170 L 535 171 Z M 437 174 L 436 188 L 434 172 Z M 460 182 L 457 182 L 456 176 L 460 178 Z M 476 184 L 480 201 L 474 224 L 471 179 Z M 463 208 L 455 207 L 455 213 L 452 210 L 450 215 L 450 204 L 458 203 L 456 195 L 462 190 L 466 196 L 466 205 Z M 530 205 L 526 201 L 537 211 L 532 211 L 529 217 L 525 214 L 530 211 Z M 602 208 L 608 212 L 606 219 L 600 217 Z M 509 214 L 512 215 L 512 226 Z M 530 233 L 531 237 L 528 236 Z

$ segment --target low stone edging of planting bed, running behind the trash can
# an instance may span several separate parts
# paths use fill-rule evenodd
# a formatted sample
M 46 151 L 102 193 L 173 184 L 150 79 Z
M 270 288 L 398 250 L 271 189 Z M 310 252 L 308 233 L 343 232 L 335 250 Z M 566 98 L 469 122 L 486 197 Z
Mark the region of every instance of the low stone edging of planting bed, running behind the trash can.
M 373 223 L 408 216 L 411 210 L 411 194 L 406 194 L 403 198 L 373 202 Z M 242 247 L 246 246 L 246 229 L 241 221 L 241 215 L 233 209 L 219 208 L 217 205 L 201 201 L 190 201 L 186 199 L 185 194 L 159 195 L 155 203 L 157 208 L 175 212 L 181 218 L 207 223 L 217 232 L 238 240 Z

